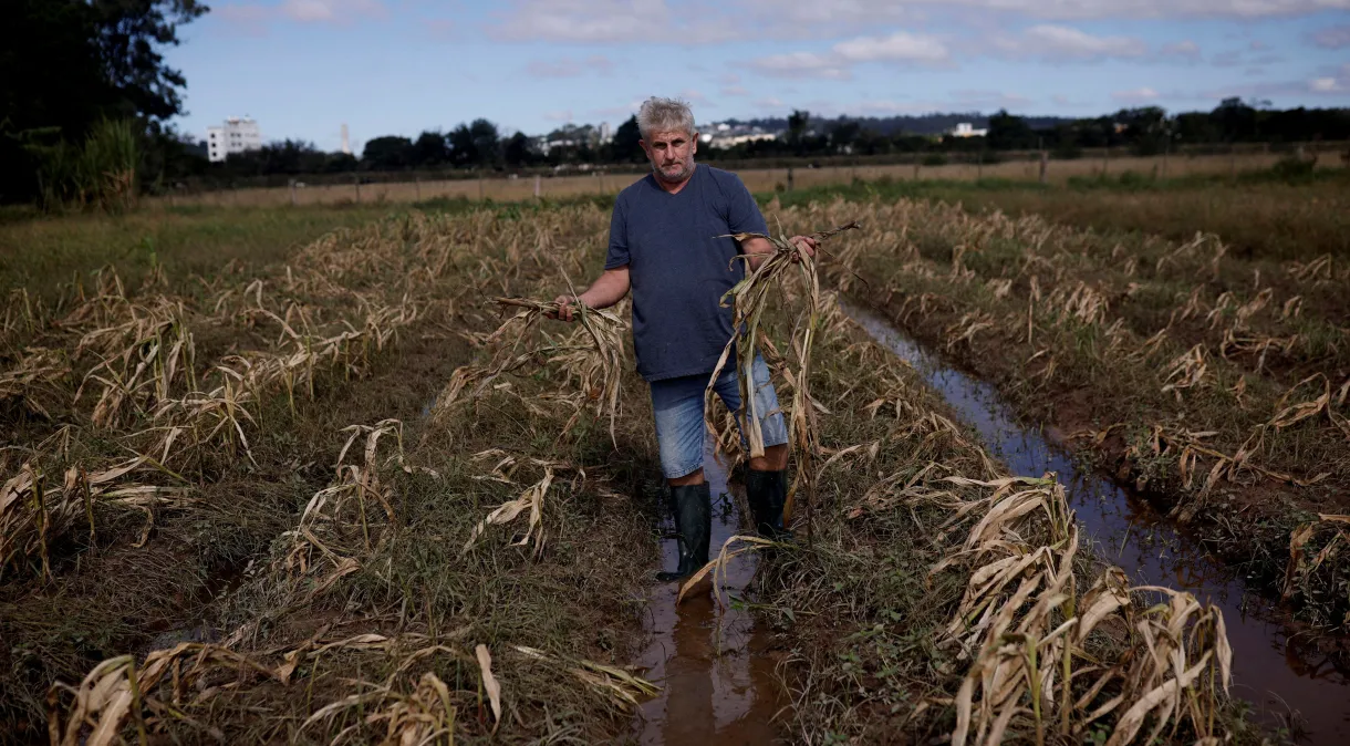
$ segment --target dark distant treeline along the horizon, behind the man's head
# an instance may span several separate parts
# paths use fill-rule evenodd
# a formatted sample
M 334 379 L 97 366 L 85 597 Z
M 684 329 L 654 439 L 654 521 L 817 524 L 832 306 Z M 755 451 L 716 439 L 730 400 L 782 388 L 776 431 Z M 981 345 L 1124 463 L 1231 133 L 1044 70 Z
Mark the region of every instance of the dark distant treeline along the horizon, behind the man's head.
M 814 158 L 826 155 L 891 155 L 1046 150 L 1054 158 L 1075 158 L 1085 149 L 1111 147 L 1138 155 L 1166 150 L 1195 151 L 1204 146 L 1220 149 L 1234 143 L 1293 143 L 1350 139 L 1350 109 L 1276 111 L 1261 103 L 1226 99 L 1208 112 L 1169 115 L 1160 107 L 1120 109 L 1085 119 L 1029 119 L 999 111 L 972 123 L 987 128 L 983 136 L 923 135 L 906 131 L 882 132 L 869 119 L 818 119 L 809 111 L 794 111 L 783 122 L 776 139 L 733 147 L 699 147 L 705 161 L 755 161 Z M 1034 123 L 1053 124 L 1033 127 Z M 324 153 L 312 143 L 284 141 L 262 150 L 232 154 L 224 164 L 208 169 L 200 164 L 194 176 L 208 181 L 228 181 L 273 174 L 323 174 L 360 172 L 410 172 L 466 169 L 473 172 L 520 170 L 541 166 L 582 166 L 640 164 L 637 119 L 629 118 L 613 138 L 602 139 L 590 126 L 568 124 L 543 138 L 522 132 L 505 136 L 495 124 L 475 119 L 448 132 L 424 131 L 416 138 L 385 135 L 366 142 L 359 157 Z M 547 150 L 541 143 L 549 143 Z

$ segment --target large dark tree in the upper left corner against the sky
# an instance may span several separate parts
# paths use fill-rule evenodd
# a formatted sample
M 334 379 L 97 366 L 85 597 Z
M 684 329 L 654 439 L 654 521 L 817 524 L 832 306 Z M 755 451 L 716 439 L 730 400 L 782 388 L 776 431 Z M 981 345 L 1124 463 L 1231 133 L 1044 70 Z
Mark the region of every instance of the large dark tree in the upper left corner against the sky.
M 103 119 L 132 119 L 139 147 L 177 147 L 182 74 L 161 50 L 207 12 L 197 0 L 9 0 L 0 23 L 0 200 L 36 195 L 45 154 Z M 157 155 L 148 164 L 171 158 Z

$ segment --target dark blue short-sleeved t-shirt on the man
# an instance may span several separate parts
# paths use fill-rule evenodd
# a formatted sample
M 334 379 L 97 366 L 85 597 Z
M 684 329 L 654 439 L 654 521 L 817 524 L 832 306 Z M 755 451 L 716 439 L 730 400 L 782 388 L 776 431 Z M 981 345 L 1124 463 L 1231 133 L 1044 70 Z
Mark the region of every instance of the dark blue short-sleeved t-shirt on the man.
M 768 232 L 749 189 L 706 165 L 679 192 L 647 174 L 618 193 L 605 269 L 628 265 L 633 350 L 648 381 L 711 373 L 732 338 L 733 309 L 721 300 L 745 276 L 734 232 Z M 733 351 L 734 354 L 734 351 Z M 734 365 L 734 361 L 729 362 Z

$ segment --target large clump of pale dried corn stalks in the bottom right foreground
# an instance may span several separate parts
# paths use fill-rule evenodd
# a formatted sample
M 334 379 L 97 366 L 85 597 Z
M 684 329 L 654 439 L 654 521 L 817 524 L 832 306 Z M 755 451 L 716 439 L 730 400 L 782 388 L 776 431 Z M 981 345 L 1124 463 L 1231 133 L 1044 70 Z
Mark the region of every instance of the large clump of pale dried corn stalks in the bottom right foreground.
M 959 660 L 972 660 L 956 695 L 953 746 L 1000 743 L 1014 722 L 1027 719 L 1038 743 L 1049 731 L 1081 741 L 1088 726 L 1111 714 L 1112 746 L 1131 743 L 1150 718 L 1146 742 L 1168 724 L 1173 737 L 1183 723 L 1196 738 L 1216 735 L 1214 712 L 1227 693 L 1233 658 L 1222 612 L 1189 593 L 1131 589 L 1115 568 L 1079 599 L 1077 523 L 1058 482 L 948 481 L 995 488 L 973 504 L 984 514 L 961 550 L 933 569 L 977 568 L 941 635 L 941 645 L 959 647 Z M 1137 610 L 1131 595 L 1146 592 L 1166 601 Z M 1115 642 L 1094 643 L 1099 628 L 1114 628 Z M 1131 645 L 1120 642 L 1126 630 L 1134 632 Z

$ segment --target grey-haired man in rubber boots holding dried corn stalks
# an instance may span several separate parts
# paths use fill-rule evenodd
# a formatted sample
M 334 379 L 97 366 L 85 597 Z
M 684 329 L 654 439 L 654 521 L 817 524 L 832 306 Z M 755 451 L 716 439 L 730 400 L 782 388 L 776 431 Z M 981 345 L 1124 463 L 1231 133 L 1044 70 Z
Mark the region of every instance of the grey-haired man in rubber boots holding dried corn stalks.
M 559 296 L 558 318 L 572 320 L 576 301 L 608 308 L 633 292 L 637 372 L 651 385 L 662 472 L 679 531 L 679 566 L 657 573 L 659 580 L 670 581 L 707 564 L 711 495 L 703 481 L 703 391 L 733 326 L 733 311 L 722 308 L 721 299 L 745 276 L 747 261 L 753 270 L 774 246 L 763 238 L 741 243 L 718 238 L 768 234 L 768 227 L 738 177 L 694 162 L 698 132 L 686 104 L 648 99 L 637 114 L 637 128 L 652 173 L 620 192 L 605 272 L 582 295 Z M 811 238 L 791 241 L 814 255 Z M 740 253 L 749 259 L 734 259 Z M 768 366 L 756 358 L 752 369 L 765 447 L 763 457 L 751 459 L 745 492 L 756 530 L 775 537 L 783 531 L 787 495 L 787 424 Z M 740 423 L 734 364 L 718 376 L 714 391 Z M 741 442 L 747 442 L 745 432 Z

